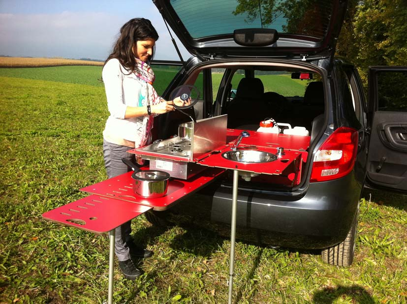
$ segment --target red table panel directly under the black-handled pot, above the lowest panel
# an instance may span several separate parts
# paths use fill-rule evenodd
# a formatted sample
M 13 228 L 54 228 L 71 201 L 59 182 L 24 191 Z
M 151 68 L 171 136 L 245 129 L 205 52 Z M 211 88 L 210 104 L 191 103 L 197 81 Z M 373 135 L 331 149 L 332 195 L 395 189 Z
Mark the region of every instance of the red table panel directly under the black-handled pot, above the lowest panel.
M 143 198 L 133 192 L 133 172 L 128 172 L 103 182 L 87 186 L 81 191 L 102 195 L 106 197 L 124 200 L 154 208 L 154 210 L 165 210 L 175 201 L 195 192 L 212 182 L 225 170 L 220 168 L 208 168 L 188 180 L 170 179 L 167 194 L 158 198 Z

